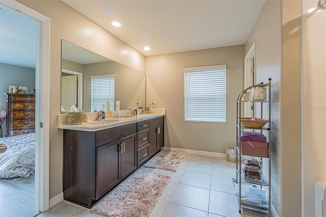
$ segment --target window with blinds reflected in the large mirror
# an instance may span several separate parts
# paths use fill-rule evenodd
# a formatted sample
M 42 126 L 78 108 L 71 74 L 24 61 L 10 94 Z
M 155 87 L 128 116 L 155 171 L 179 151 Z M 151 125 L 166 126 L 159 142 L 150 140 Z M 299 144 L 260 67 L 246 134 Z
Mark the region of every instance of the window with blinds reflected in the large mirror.
M 101 111 L 103 104 L 110 100 L 110 111 L 114 111 L 114 74 L 91 76 L 91 111 Z M 105 111 L 107 108 L 105 107 Z

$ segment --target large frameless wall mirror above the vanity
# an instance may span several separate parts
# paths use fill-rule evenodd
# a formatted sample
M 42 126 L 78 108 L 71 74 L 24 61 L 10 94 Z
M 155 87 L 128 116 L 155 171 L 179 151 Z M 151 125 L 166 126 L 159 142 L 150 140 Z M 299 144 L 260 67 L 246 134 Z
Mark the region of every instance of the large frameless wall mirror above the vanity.
M 141 106 L 145 105 L 145 73 L 143 72 L 97 55 L 65 40 L 62 40 L 61 68 L 62 111 L 70 111 L 71 106 L 74 105 L 78 110 L 93 112 L 91 111 L 91 78 L 102 75 L 114 76 L 114 101 L 120 100 L 120 110 L 126 110 L 129 106 L 136 106 L 137 101 L 141 103 Z M 94 83 L 93 86 L 95 87 Z M 100 86 L 97 85 L 96 87 Z M 102 93 L 106 91 L 100 90 Z M 106 104 L 107 99 L 101 100 L 103 101 L 103 103 L 100 101 L 101 104 Z M 114 102 L 111 101 L 110 104 L 111 111 L 113 111 Z M 97 107 L 98 111 L 100 109 L 101 107 Z

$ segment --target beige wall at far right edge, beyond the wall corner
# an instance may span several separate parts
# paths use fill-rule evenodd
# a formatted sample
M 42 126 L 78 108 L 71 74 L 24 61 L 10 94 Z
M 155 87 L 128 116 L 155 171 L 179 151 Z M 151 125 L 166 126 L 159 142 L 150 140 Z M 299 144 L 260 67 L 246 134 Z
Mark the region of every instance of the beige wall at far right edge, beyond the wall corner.
M 315 181 L 326 182 L 326 11 L 303 1 L 303 216 L 315 216 Z

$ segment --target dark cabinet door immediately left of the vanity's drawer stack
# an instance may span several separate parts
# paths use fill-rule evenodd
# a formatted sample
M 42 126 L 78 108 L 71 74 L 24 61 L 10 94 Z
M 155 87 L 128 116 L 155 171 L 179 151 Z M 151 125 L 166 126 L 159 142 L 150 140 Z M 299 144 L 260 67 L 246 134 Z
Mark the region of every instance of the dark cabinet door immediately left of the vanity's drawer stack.
M 136 135 L 121 140 L 121 180 L 137 169 Z

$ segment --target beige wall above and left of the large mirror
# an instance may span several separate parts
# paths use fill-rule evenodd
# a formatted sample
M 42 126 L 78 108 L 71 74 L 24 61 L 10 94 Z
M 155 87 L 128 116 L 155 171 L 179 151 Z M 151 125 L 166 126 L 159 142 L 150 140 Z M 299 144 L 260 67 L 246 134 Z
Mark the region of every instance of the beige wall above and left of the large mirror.
M 57 129 L 61 104 L 61 40 L 108 59 L 145 71 L 145 57 L 62 1 L 23 1 L 21 4 L 50 18 L 50 198 L 62 193 L 63 132 Z M 121 52 L 126 51 L 126 52 Z M 127 55 L 126 55 L 127 53 Z

